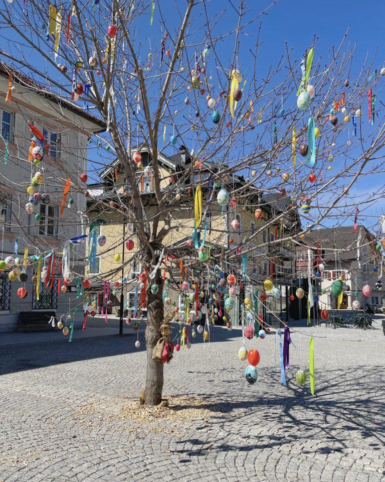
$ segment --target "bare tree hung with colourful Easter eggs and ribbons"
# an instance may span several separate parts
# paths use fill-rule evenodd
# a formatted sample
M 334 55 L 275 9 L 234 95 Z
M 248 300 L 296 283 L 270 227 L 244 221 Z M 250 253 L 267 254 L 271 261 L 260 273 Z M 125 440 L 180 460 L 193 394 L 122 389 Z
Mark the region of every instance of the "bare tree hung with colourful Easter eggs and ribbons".
M 380 150 L 385 142 L 382 112 L 374 110 L 378 103 L 373 102 L 373 89 L 377 94 L 381 89 L 381 74 L 365 59 L 354 75 L 354 49 L 345 45 L 346 36 L 337 49 L 329 50 L 326 60 L 317 55 L 316 39 L 304 49 L 302 62 L 295 61 L 286 46 L 278 65 L 261 73 L 257 68 L 260 22 L 274 10 L 276 1 L 262 12 L 249 8 L 245 0 L 237 6 L 225 2 L 223 12 L 212 12 L 205 0 L 166 2 L 180 19 L 177 25 L 166 21 L 164 4 L 113 0 L 112 5 L 102 5 L 96 0 L 74 0 L 71 6 L 53 10 L 48 2 L 29 0 L 25 6 L 5 2 L 0 12 L 3 40 L 11 31 L 16 36 L 12 46 L 2 51 L 4 61 L 39 79 L 63 99 L 88 102 L 92 113 L 107 124 L 107 133 L 96 143 L 108 150 L 101 150 L 94 166 L 104 168 L 117 159 L 128 197 L 115 186 L 116 202 L 111 206 L 101 199 L 99 207 L 115 210 L 118 219 L 123 213 L 130 221 L 139 240 L 140 262 L 147 270 L 147 280 L 141 278 L 147 281 L 147 404 L 160 403 L 163 387 L 163 364 L 152 356 L 167 324 L 162 257 L 169 257 L 170 288 L 177 292 L 180 280 L 171 272 L 178 274 L 179 260 L 189 279 L 193 273 L 205 276 L 201 282 L 196 280 L 200 290 L 206 291 L 208 281 L 218 276 L 217 266 L 242 277 L 243 256 L 248 255 L 250 266 L 269 259 L 256 248 L 277 243 L 291 246 L 304 232 L 341 210 L 343 219 L 353 216 L 356 203 L 347 200 L 349 191 L 362 176 L 383 169 Z M 223 28 L 226 16 L 233 19 L 231 30 Z M 250 26 L 257 26 L 254 49 L 245 55 L 240 45 Z M 227 55 L 219 54 L 221 45 L 226 45 Z M 30 62 L 31 56 L 38 57 L 36 63 Z M 87 85 L 87 96 L 78 92 L 78 84 Z M 188 146 L 191 162 L 174 172 L 172 184 L 164 188 L 168 179 L 162 175 L 159 158 L 175 152 L 175 145 Z M 154 202 L 150 203 L 137 182 L 141 166 L 133 153 L 139 146 L 151 155 Z M 333 160 L 338 162 L 333 164 Z M 337 166 L 334 171 L 333 165 Z M 209 210 L 221 210 L 217 199 L 221 188 L 226 192 L 222 191 L 220 204 L 228 206 L 230 198 L 228 212 L 234 216 L 236 209 L 254 216 L 263 199 L 273 193 L 272 215 L 255 230 L 242 227 L 236 247 L 228 238 L 223 243 L 224 231 L 233 229 L 230 223 L 213 230 L 218 243 L 210 257 L 198 256 L 199 250 L 186 249 L 185 244 L 170 246 L 172 233 L 181 226 L 178 214 L 184 212 L 188 218 L 189 213 L 194 219 L 195 199 L 204 192 L 199 224 Z M 76 189 L 86 193 L 86 187 Z M 284 208 L 274 208 L 277 199 L 285 202 Z M 300 227 L 298 211 L 308 222 L 306 229 Z M 197 223 L 187 223 L 187 227 L 195 233 L 197 244 L 193 246 L 201 248 Z M 201 235 L 203 225 L 204 221 Z M 267 227 L 280 230 L 279 240 L 262 240 Z M 109 279 L 120 268 L 101 276 Z M 246 283 L 247 274 L 243 275 Z M 211 282 L 208 294 L 216 291 Z M 151 284 L 159 289 L 151 291 Z M 182 294 L 187 295 L 186 290 Z

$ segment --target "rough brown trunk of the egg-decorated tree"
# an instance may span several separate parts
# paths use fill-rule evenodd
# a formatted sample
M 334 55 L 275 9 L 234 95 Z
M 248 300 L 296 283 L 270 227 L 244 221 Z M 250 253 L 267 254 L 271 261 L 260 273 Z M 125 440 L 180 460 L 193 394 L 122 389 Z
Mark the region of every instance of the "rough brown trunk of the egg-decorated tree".
M 151 280 L 149 280 L 151 283 Z M 163 321 L 163 283 L 160 272 L 156 274 L 158 292 L 151 293 L 151 286 L 147 290 L 147 326 L 145 331 L 147 351 L 146 388 L 144 390 L 144 403 L 146 405 L 158 405 L 162 400 L 163 390 L 163 364 L 152 359 L 152 350 L 161 337 L 159 327 Z

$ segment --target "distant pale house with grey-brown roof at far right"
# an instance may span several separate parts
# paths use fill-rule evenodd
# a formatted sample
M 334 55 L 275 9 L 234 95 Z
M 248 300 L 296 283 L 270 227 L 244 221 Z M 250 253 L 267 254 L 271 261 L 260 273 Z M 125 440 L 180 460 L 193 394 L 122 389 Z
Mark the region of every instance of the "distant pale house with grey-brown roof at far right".
M 385 292 L 377 289 L 381 255 L 375 249 L 376 237 L 363 225 L 339 226 L 315 229 L 305 234 L 303 245 L 296 247 L 296 273 L 298 278 L 307 277 L 308 249 L 311 249 L 311 273 L 317 284 L 320 309 L 336 308 L 336 299 L 330 291 L 332 282 L 339 277 L 344 283 L 341 309 L 352 309 L 357 299 L 361 307 L 365 303 L 372 307 L 382 305 Z M 322 263 L 322 272 L 317 268 Z M 368 284 L 372 289 L 367 298 L 362 287 Z M 321 290 L 325 290 L 325 294 Z M 357 296 L 355 296 L 357 293 Z

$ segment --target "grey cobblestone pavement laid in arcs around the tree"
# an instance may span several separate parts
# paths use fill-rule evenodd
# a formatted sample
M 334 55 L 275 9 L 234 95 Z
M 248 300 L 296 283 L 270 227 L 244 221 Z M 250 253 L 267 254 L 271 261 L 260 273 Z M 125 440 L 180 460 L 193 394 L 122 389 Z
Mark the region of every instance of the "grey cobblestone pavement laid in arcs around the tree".
M 133 336 L 2 346 L 0 481 L 385 480 L 382 330 L 302 330 L 326 336 L 315 338 L 314 397 L 294 379 L 300 358 L 308 367 L 308 336 L 292 334 L 287 388 L 275 337 L 256 340 L 251 386 L 241 331 L 214 327 L 210 344 L 176 353 L 164 387 L 205 398 L 211 415 L 164 433 L 111 416 L 142 388 L 145 354 Z

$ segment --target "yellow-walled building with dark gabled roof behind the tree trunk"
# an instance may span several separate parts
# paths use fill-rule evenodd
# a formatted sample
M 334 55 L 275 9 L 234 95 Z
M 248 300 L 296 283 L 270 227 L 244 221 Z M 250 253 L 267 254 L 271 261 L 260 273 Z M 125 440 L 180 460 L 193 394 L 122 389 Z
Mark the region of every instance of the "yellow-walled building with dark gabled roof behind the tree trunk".
M 153 174 L 151 169 L 151 157 L 145 148 L 139 149 L 143 170 L 137 171 L 137 185 L 142 195 L 143 204 L 146 206 L 146 214 L 151 223 L 151 218 L 156 212 L 156 200 L 153 193 Z M 234 247 L 234 253 L 242 245 L 243 251 L 247 251 L 248 263 L 246 275 L 249 279 L 247 291 L 240 294 L 241 298 L 250 295 L 250 292 L 261 285 L 266 276 L 273 275 L 278 284 L 288 283 L 292 272 L 291 244 L 282 246 L 279 238 L 287 233 L 286 218 L 280 217 L 277 224 L 270 221 L 277 214 L 284 212 L 288 205 L 288 199 L 282 198 L 279 194 L 264 195 L 258 192 L 254 186 L 243 188 L 246 181 L 243 176 L 229 176 L 227 179 L 227 190 L 229 192 L 241 192 L 239 199 L 230 199 L 228 206 L 221 208 L 218 205 L 216 196 L 222 187 L 220 179 L 216 176 L 218 166 L 214 163 L 205 162 L 202 169 L 194 169 L 192 175 L 186 176 L 181 184 L 180 179 L 190 168 L 191 159 L 183 146 L 178 154 L 166 157 L 159 155 L 159 177 L 162 193 L 169 193 L 167 208 L 169 209 L 169 233 L 163 240 L 163 245 L 169 248 L 184 247 L 189 258 L 197 259 L 197 250 L 194 242 L 191 243 L 191 236 L 194 231 L 194 189 L 201 185 L 203 192 L 203 221 L 201 235 L 207 223 L 207 235 L 205 248 L 211 254 L 221 254 Z M 191 170 L 189 170 L 191 172 Z M 193 177 L 191 179 L 191 176 Z M 142 268 L 140 264 L 140 253 L 137 252 L 137 239 L 134 225 L 129 219 L 125 219 L 123 204 L 130 202 L 129 188 L 125 185 L 125 177 L 120 170 L 119 160 L 108 166 L 101 174 L 101 183 L 89 186 L 89 201 L 87 204 L 90 222 L 101 219 L 96 228 L 97 235 L 105 235 L 106 243 L 103 247 L 98 246 L 95 269 L 92 263 L 89 266 L 89 278 L 93 278 L 93 292 L 101 293 L 105 280 L 111 282 L 111 289 L 114 289 L 114 282 L 122 278 L 128 280 L 132 275 L 138 275 Z M 230 188 L 231 186 L 231 188 Z M 215 189 L 214 197 L 208 199 Z M 173 206 L 173 202 L 175 206 Z M 209 202 L 208 202 L 209 201 Z M 262 210 L 262 219 L 256 219 L 255 210 Z M 281 220 L 282 219 L 282 220 Z M 234 222 L 235 221 L 235 222 Z M 239 227 L 237 224 L 239 223 Z M 163 227 L 163 221 L 159 222 L 159 229 Z M 266 228 L 263 226 L 266 224 Z M 290 229 L 298 227 L 299 221 L 295 219 L 290 222 Z M 152 228 L 152 225 L 151 225 Z M 124 231 L 124 232 L 123 232 Z M 258 233 L 258 234 L 255 234 Z M 250 241 L 250 236 L 253 236 Z M 134 248 L 127 250 L 125 242 L 132 239 Z M 273 242 L 276 243 L 273 244 Z M 191 246 L 188 245 L 191 243 Z M 271 243 L 267 245 L 267 243 Z M 115 258 L 116 255 L 120 256 Z M 241 257 L 239 257 L 241 258 Z M 116 261 L 118 259 L 118 261 Z M 124 260 L 124 267 L 122 267 Z M 129 260 L 129 263 L 127 261 Z M 222 260 L 226 261 L 226 260 Z M 234 262 L 233 262 L 234 263 Z M 241 270 L 241 260 L 238 262 Z M 169 265 L 168 265 L 169 266 Z M 87 271 L 87 270 L 86 270 Z M 172 270 L 169 268 L 169 272 Z M 179 279 L 179 272 L 174 269 L 176 279 Z M 285 281 L 286 280 L 286 281 Z M 172 285 L 172 283 L 170 283 Z M 174 284 L 175 286 L 175 284 Z M 128 306 L 133 306 L 134 292 L 129 288 L 126 300 Z M 242 288 L 238 286 L 238 290 Z M 177 290 L 169 296 L 175 299 Z M 113 306 L 112 314 L 120 314 L 120 288 L 116 296 L 111 296 Z M 99 305 L 101 304 L 99 296 Z M 238 308 L 237 308 L 238 309 Z M 99 310 L 100 311 L 100 310 Z M 237 316 L 238 313 L 234 312 Z

